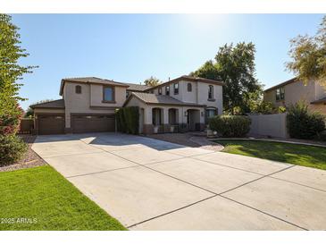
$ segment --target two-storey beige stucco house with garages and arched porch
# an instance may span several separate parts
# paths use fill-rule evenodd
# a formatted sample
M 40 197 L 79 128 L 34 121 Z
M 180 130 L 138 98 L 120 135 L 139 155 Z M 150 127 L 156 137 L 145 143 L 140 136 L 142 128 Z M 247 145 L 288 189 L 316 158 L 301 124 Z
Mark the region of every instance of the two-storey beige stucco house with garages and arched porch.
M 60 95 L 63 99 L 30 106 L 34 133 L 115 131 L 114 113 L 122 106 L 139 106 L 142 133 L 152 133 L 155 125 L 160 131 L 180 124 L 202 130 L 205 118 L 222 114 L 222 82 L 188 76 L 155 88 L 95 77 L 63 79 Z

